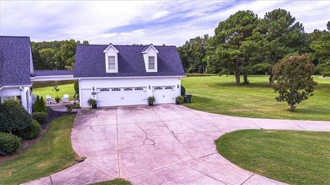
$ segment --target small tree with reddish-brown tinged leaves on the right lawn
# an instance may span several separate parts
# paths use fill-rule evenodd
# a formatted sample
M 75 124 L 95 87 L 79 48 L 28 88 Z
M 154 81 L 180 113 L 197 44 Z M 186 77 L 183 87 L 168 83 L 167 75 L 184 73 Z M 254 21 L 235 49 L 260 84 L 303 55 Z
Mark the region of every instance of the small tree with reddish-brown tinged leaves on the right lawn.
M 279 93 L 277 101 L 287 101 L 289 109 L 294 111 L 296 104 L 313 95 L 314 82 L 311 76 L 314 64 L 307 54 L 284 58 L 274 66 L 275 92 Z

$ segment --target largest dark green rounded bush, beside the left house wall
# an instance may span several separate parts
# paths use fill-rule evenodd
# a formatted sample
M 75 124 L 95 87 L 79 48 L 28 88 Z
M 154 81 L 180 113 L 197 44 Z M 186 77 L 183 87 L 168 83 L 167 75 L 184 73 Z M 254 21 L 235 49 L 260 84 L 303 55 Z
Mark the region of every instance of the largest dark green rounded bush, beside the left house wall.
M 17 99 L 0 103 L 0 132 L 23 130 L 32 122 L 32 116 Z

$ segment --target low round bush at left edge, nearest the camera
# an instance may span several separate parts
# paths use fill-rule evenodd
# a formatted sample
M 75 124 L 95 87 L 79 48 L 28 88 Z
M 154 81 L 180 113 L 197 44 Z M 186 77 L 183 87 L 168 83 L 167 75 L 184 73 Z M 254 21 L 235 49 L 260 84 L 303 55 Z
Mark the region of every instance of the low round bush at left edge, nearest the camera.
M 0 150 L 12 155 L 21 146 L 21 139 L 13 134 L 0 132 Z

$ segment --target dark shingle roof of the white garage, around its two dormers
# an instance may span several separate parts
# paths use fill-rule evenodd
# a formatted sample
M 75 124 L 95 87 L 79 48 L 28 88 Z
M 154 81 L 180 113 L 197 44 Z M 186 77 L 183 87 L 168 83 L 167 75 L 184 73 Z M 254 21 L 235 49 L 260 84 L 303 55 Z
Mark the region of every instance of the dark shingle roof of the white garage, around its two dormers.
M 147 73 L 143 54 L 145 45 L 113 45 L 118 49 L 118 73 L 106 73 L 104 49 L 109 45 L 78 45 L 74 77 L 140 77 L 185 75 L 175 46 L 155 46 L 158 69 Z

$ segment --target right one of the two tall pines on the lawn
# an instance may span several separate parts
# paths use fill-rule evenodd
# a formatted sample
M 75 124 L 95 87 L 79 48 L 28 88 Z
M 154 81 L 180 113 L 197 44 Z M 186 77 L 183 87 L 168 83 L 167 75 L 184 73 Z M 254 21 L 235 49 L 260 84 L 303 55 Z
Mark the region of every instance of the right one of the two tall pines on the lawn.
M 272 67 L 289 53 L 304 53 L 304 27 L 296 18 L 283 9 L 267 12 L 254 32 L 258 40 L 259 53 L 264 62 L 270 64 L 270 86 L 274 85 Z

